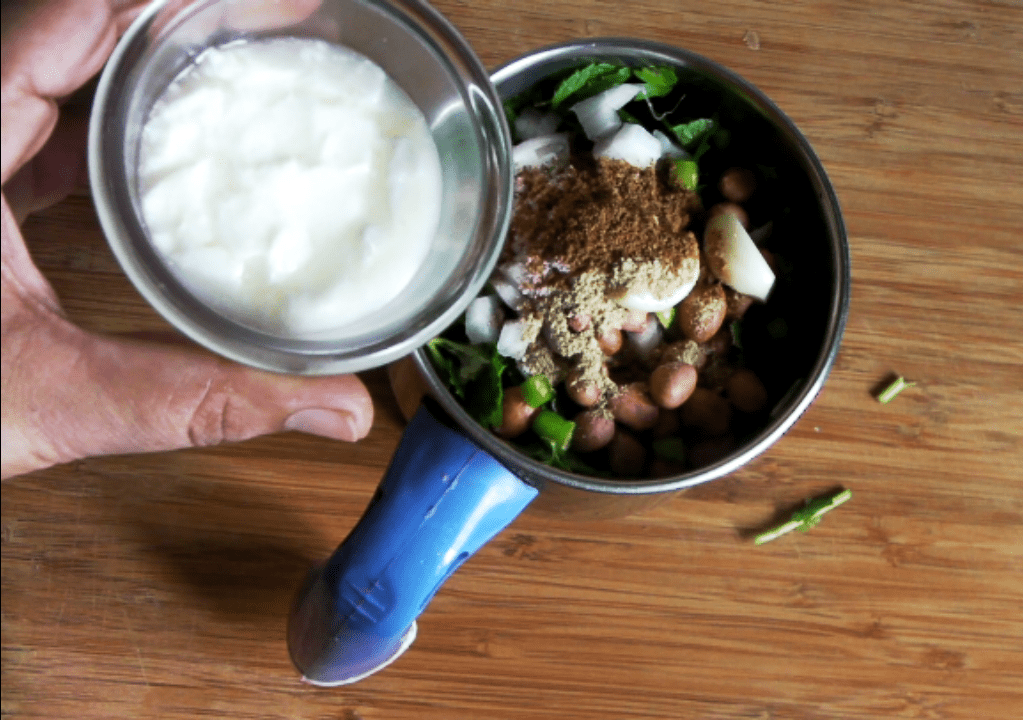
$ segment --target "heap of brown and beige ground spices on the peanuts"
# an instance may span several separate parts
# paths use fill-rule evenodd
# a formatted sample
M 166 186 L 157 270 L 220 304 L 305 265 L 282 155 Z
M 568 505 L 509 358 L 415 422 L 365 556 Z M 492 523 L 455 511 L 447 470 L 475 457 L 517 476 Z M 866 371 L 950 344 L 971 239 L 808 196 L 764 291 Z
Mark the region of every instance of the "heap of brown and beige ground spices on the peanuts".
M 666 297 L 700 271 L 686 228 L 699 196 L 654 167 L 576 156 L 563 168 L 527 168 L 516 182 L 516 212 L 502 262 L 525 269 L 521 316 L 533 330 L 521 361 L 558 381 L 568 372 L 617 392 L 597 338 L 622 326 L 616 300 L 634 289 Z

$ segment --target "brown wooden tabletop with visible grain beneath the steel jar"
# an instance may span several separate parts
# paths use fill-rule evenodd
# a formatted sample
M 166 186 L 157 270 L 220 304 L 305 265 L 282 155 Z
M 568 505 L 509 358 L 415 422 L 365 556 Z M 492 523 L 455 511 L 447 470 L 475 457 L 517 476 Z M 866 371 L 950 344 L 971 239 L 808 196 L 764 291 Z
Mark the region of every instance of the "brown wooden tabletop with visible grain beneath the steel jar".
M 765 455 L 640 516 L 527 513 L 412 648 L 299 682 L 292 592 L 369 499 L 403 420 L 77 462 L 3 486 L 10 718 L 970 718 L 1023 708 L 1023 9 L 1008 2 L 446 0 L 490 65 L 582 36 L 750 79 L 842 200 L 853 302 L 819 399 Z M 71 315 L 164 329 L 90 200 L 26 234 Z M 886 375 L 917 387 L 889 405 Z M 838 485 L 811 533 L 747 530 Z

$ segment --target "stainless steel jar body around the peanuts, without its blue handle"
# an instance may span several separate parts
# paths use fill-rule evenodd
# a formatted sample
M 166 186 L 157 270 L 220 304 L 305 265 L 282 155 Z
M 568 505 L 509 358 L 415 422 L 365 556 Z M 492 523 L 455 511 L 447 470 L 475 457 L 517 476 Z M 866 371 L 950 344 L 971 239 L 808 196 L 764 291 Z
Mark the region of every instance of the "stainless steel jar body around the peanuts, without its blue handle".
M 491 80 L 502 98 L 539 80 L 592 61 L 626 65 L 670 65 L 687 88 L 686 99 L 728 128 L 737 153 L 747 163 L 771 167 L 771 188 L 785 218 L 772 239 L 792 261 L 792 281 L 780 283 L 761 319 L 777 314 L 787 338 L 752 333 L 746 357 L 764 379 L 773 402 L 767 423 L 741 439 L 711 464 L 671 478 L 621 481 L 586 477 L 542 464 L 480 426 L 459 405 L 422 350 L 414 361 L 430 394 L 481 447 L 542 492 L 533 507 L 565 514 L 626 514 L 665 499 L 665 493 L 721 478 L 748 463 L 781 438 L 825 384 L 838 354 L 849 312 L 849 244 L 839 201 L 819 160 L 799 129 L 750 82 L 705 57 L 636 39 L 571 42 L 530 52 L 495 71 Z M 758 190 L 760 192 L 760 190 Z M 747 323 L 749 324 L 749 323 Z

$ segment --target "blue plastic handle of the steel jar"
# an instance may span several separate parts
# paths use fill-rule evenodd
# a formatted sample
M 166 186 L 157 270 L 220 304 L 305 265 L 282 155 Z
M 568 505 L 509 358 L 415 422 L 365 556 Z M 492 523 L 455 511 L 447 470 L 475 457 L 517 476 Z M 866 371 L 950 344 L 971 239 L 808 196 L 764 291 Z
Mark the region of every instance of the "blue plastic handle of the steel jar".
M 536 495 L 422 405 L 365 514 L 296 597 L 287 644 L 305 679 L 344 685 L 394 661 L 444 581 Z

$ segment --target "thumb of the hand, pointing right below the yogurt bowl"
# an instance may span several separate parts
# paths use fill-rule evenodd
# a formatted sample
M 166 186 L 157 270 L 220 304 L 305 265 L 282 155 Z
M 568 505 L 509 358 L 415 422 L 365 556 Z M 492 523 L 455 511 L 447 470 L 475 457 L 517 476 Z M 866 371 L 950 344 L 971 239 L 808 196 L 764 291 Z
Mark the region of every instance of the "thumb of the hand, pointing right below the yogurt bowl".
M 5 329 L 5 478 L 282 430 L 355 441 L 372 422 L 369 394 L 352 375 L 265 372 L 191 348 L 94 335 L 48 313 Z

